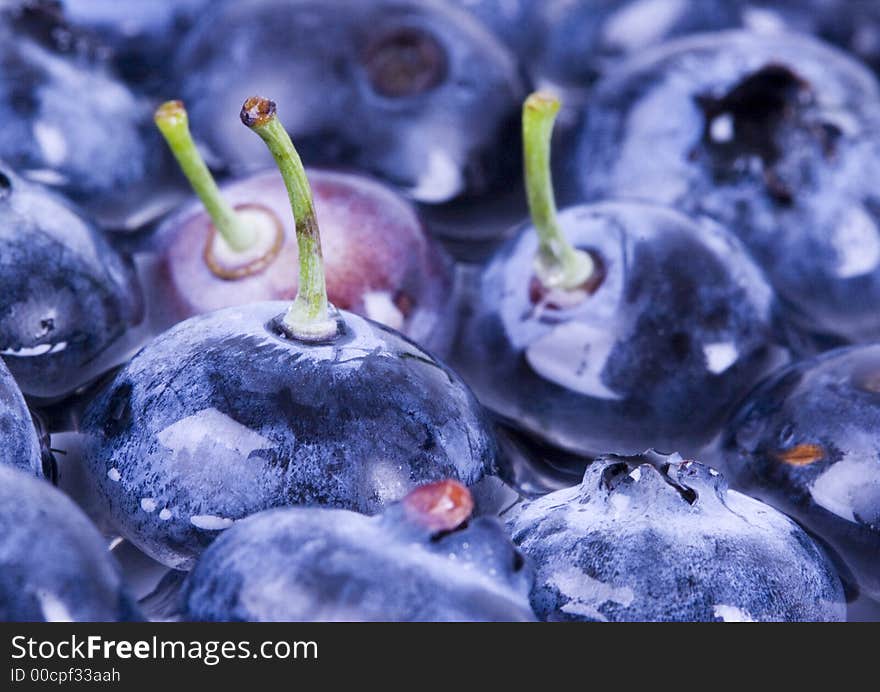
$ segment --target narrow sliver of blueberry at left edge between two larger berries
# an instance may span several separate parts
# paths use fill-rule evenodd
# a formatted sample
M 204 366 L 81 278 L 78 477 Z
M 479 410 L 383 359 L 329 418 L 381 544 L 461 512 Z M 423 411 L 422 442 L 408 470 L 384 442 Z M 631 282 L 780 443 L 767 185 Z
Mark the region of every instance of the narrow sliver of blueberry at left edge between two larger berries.
M 12 373 L 0 361 L 0 466 L 43 475 L 42 448 L 30 411 Z

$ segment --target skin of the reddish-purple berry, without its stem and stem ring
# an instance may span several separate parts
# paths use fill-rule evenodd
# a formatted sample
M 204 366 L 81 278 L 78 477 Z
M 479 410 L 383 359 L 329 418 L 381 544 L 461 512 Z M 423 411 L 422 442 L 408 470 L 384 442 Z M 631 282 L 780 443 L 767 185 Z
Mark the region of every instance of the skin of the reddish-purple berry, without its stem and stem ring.
M 452 267 L 412 206 L 364 176 L 316 170 L 309 171 L 309 180 L 330 302 L 386 324 L 431 352 L 446 351 L 455 330 Z M 183 209 L 150 243 L 156 259 L 149 290 L 166 313 L 159 317 L 164 326 L 221 307 L 296 294 L 298 250 L 281 176 L 258 173 L 224 185 L 222 193 L 234 207 L 268 211 L 283 229 L 283 244 L 263 270 L 220 278 L 205 261 L 216 232 L 210 218 L 201 205 Z

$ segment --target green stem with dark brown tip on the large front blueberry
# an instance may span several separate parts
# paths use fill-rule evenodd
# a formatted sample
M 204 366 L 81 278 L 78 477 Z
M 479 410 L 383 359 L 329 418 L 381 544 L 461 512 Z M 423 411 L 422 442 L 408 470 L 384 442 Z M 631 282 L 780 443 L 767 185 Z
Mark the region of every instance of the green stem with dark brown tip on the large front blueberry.
M 302 160 L 278 121 L 275 103 L 253 96 L 241 108 L 241 121 L 256 132 L 269 147 L 284 178 L 290 207 L 296 222 L 299 250 L 299 288 L 293 305 L 284 317 L 284 325 L 294 337 L 317 341 L 332 338 L 338 331 L 330 316 L 321 235 L 315 216 L 312 187 Z

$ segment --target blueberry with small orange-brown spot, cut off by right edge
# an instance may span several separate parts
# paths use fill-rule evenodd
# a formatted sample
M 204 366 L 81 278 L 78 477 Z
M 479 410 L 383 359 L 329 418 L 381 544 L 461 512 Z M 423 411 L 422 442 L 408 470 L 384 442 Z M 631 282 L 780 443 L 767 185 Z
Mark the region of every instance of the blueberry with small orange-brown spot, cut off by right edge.
M 732 482 L 824 539 L 848 566 L 855 586 L 875 600 L 878 431 L 880 346 L 858 346 L 829 351 L 767 379 L 733 416 L 721 444 Z M 792 456 L 799 447 L 808 453 Z

